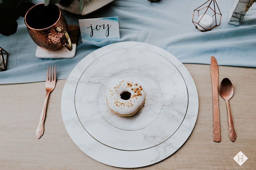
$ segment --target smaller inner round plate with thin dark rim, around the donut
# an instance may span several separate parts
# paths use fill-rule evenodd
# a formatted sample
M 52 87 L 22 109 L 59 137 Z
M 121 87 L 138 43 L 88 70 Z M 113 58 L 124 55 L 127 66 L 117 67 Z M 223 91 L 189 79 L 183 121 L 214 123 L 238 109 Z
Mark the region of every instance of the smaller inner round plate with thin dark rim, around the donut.
M 146 101 L 142 114 L 120 117 L 109 110 L 106 96 L 109 82 L 127 77 L 143 84 Z M 178 129 L 187 111 L 188 93 L 180 72 L 164 57 L 145 49 L 120 49 L 99 57 L 84 71 L 75 103 L 77 115 L 92 137 L 112 148 L 136 151 L 163 142 Z M 163 140 L 148 142 L 144 134 Z

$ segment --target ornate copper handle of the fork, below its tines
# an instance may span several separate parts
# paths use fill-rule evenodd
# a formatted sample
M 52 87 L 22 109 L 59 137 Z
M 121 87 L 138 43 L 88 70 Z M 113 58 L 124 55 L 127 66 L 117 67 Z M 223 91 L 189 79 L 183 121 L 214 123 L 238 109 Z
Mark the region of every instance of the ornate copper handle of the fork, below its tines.
M 47 100 L 49 97 L 49 92 L 46 93 L 45 98 L 44 98 L 44 106 L 40 115 L 40 120 L 39 120 L 39 124 L 36 128 L 36 138 L 39 139 L 40 137 L 42 137 L 42 135 L 44 134 L 44 118 L 45 118 L 45 112 L 46 112 L 46 105 L 47 105 Z

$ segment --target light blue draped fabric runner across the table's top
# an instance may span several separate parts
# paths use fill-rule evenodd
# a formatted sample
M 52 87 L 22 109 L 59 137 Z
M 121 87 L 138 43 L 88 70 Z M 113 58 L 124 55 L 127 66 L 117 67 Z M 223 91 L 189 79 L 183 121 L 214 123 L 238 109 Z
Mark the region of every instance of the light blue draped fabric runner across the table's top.
M 73 59 L 38 59 L 36 44 L 30 38 L 24 18 L 18 31 L 0 35 L 0 47 L 9 52 L 6 71 L 0 72 L 0 84 L 45 81 L 47 65 L 57 65 L 57 79 L 67 78 L 76 64 L 92 51 L 121 41 L 140 41 L 164 48 L 182 63 L 256 67 L 256 4 L 249 9 L 240 26 L 228 24 L 234 0 L 217 0 L 222 13 L 221 25 L 208 32 L 198 31 L 192 23 L 193 10 L 206 0 L 115 0 L 87 16 L 62 11 L 68 24 L 78 19 L 119 17 L 120 40 L 86 42 L 77 46 Z

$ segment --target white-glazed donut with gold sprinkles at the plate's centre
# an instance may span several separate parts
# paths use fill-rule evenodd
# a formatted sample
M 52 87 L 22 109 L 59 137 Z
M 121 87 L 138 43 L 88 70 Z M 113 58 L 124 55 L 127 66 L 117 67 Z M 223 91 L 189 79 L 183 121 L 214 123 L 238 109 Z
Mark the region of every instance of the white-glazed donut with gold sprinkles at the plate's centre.
M 107 104 L 119 116 L 134 115 L 145 103 L 146 92 L 138 82 L 131 79 L 111 84 L 108 89 Z

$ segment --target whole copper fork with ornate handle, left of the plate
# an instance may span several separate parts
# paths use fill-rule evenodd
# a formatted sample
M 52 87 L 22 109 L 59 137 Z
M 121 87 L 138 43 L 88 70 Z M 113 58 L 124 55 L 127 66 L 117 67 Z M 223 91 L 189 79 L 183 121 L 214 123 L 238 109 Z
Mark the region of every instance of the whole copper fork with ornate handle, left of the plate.
M 44 106 L 42 109 L 42 113 L 40 115 L 39 124 L 36 128 L 36 138 L 37 139 L 42 137 L 42 135 L 44 134 L 44 118 L 45 118 L 47 100 L 48 100 L 50 92 L 52 92 L 52 90 L 54 89 L 55 84 L 56 84 L 56 66 L 50 66 L 50 72 L 49 72 L 49 65 L 48 65 L 46 83 L 45 83 L 46 95 L 44 98 Z

